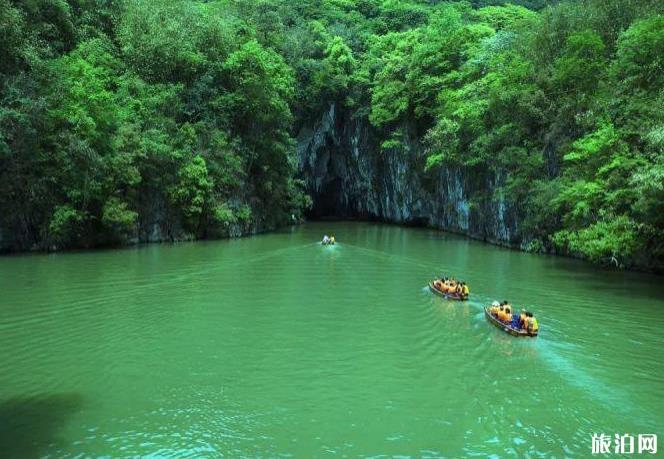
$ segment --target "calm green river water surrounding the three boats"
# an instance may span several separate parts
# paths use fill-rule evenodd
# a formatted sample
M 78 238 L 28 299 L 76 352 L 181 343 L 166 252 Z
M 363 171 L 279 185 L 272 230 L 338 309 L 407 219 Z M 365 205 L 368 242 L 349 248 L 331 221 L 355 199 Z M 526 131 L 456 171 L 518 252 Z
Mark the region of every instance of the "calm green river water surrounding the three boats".
M 664 434 L 663 284 L 363 223 L 4 257 L 0 456 L 586 457 Z

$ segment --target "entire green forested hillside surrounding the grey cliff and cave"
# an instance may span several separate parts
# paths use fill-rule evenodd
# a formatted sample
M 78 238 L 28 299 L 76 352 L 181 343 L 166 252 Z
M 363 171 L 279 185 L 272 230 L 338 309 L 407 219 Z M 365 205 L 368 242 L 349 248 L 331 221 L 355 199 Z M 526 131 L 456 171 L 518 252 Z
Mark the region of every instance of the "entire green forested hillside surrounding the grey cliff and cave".
M 0 246 L 300 220 L 333 106 L 424 187 L 500 176 L 505 242 L 661 268 L 664 4 L 512 3 L 0 0 Z

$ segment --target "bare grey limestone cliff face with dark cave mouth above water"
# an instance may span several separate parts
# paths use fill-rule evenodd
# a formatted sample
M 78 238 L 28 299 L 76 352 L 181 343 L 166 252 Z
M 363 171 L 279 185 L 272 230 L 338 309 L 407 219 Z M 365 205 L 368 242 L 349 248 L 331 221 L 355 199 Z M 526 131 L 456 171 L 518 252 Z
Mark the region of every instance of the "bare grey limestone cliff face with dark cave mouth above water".
M 407 131 L 406 131 L 407 132 Z M 500 176 L 454 168 L 423 173 L 422 146 L 404 136 L 402 151 L 381 152 L 366 119 L 335 105 L 297 138 L 297 157 L 313 217 L 375 219 L 426 225 L 518 246 L 519 216 L 501 195 Z

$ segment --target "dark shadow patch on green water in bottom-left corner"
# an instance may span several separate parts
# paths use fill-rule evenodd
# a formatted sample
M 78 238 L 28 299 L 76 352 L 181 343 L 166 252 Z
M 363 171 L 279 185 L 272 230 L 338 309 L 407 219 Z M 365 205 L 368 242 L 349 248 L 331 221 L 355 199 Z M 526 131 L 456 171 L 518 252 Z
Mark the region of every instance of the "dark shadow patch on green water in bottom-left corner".
M 83 405 L 78 394 L 18 397 L 0 403 L 0 456 L 42 457 L 47 448 L 65 446 L 58 431 Z

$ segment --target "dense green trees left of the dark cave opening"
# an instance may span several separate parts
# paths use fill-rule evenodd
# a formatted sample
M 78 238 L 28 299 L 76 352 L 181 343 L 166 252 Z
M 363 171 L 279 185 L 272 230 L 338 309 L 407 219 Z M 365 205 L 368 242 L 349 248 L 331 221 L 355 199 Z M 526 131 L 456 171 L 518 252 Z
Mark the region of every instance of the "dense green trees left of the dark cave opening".
M 193 237 L 300 215 L 293 70 L 223 5 L 0 11 L 0 222 L 16 246 L 122 242 L 155 205 Z

